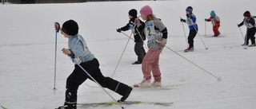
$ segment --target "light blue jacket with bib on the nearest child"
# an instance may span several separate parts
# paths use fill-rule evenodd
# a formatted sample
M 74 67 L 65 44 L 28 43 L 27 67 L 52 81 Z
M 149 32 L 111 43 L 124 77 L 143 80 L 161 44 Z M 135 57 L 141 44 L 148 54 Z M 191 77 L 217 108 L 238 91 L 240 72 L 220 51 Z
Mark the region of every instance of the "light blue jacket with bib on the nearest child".
M 94 54 L 90 53 L 86 41 L 79 34 L 69 37 L 68 46 L 73 53 L 71 57 L 78 60 L 78 63 L 87 62 L 95 58 Z

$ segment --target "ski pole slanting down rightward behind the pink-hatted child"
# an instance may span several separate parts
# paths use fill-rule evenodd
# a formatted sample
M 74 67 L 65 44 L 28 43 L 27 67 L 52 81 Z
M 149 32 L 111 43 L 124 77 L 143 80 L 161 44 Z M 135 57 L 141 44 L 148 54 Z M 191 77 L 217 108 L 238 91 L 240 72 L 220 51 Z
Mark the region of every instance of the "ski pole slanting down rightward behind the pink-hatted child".
M 159 41 L 157 41 L 158 43 L 160 43 Z M 190 62 L 191 64 L 194 64 L 194 62 L 192 62 L 191 60 L 189 60 L 189 59 L 187 59 L 185 56 L 182 56 L 181 54 L 179 54 L 179 53 L 177 53 L 177 52 L 175 52 L 173 49 L 170 49 L 169 47 L 167 47 L 167 46 L 165 46 L 167 49 L 169 49 L 170 51 L 172 51 L 173 53 L 175 53 L 175 54 L 177 54 L 178 56 L 181 56 L 184 60 L 187 60 L 188 62 Z M 200 67 L 198 64 L 194 64 L 196 67 L 198 67 L 198 68 L 200 68 L 200 69 L 202 69 L 204 72 L 207 72 L 208 74 L 210 74 L 210 76 L 213 76 L 214 78 L 216 78 L 217 79 L 217 81 L 220 81 L 220 80 L 222 80 L 222 78 L 221 77 L 217 77 L 217 76 L 214 76 L 214 74 L 212 74 L 212 73 L 210 73 L 210 72 L 208 72 L 208 71 L 206 71 L 206 69 L 204 69 L 204 68 L 202 68 L 202 67 Z

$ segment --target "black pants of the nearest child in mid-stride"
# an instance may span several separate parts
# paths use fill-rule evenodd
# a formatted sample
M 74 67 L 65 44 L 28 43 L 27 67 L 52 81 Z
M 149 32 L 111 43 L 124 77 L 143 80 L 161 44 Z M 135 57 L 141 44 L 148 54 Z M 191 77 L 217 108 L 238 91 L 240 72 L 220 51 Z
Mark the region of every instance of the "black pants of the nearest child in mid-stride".
M 129 88 L 126 84 L 122 84 L 110 77 L 102 76 L 102 72 L 98 68 L 99 63 L 96 58 L 86 63 L 81 63 L 80 65 L 98 82 L 98 84 L 101 84 L 103 88 L 109 88 L 110 90 L 117 92 L 119 95 L 124 95 L 127 88 Z M 76 109 L 79 85 L 87 79 L 92 80 L 90 76 L 86 75 L 86 72 L 84 72 L 82 68 L 76 64 L 74 66 L 74 71 L 66 80 L 66 102 L 64 105 L 68 105 L 73 109 Z

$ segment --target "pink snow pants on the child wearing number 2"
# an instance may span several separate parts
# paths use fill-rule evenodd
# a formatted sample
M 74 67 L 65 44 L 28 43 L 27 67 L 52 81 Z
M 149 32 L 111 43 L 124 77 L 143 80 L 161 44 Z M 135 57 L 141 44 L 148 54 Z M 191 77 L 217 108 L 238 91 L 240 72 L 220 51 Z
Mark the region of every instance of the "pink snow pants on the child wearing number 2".
M 151 79 L 151 72 L 154 80 L 161 81 L 161 72 L 159 69 L 159 56 L 162 49 L 149 49 L 142 61 L 142 72 L 146 80 Z

